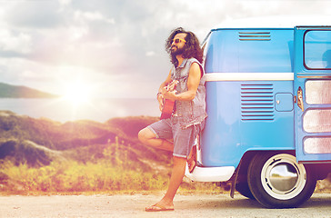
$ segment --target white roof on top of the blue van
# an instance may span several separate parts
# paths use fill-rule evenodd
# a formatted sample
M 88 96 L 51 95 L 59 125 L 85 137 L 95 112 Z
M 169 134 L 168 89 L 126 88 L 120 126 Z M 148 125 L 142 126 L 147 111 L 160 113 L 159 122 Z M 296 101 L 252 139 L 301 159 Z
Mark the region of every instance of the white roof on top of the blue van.
M 216 25 L 216 29 L 237 28 L 294 28 L 297 25 L 320 26 L 331 25 L 331 15 L 271 15 L 246 17 L 236 20 L 226 20 Z

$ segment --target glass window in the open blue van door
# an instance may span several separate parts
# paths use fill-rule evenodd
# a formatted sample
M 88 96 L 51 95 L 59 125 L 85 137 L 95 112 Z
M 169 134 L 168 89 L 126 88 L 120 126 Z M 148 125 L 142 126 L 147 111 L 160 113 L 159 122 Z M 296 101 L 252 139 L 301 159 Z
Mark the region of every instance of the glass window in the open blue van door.
M 331 31 L 310 30 L 304 37 L 304 60 L 309 70 L 331 70 Z

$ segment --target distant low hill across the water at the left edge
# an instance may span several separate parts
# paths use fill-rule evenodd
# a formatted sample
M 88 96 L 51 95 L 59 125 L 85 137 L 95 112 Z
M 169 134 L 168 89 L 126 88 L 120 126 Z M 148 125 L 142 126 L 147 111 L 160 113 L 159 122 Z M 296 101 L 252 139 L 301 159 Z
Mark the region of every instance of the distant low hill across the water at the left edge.
M 0 98 L 55 98 L 58 95 L 48 94 L 22 85 L 0 83 Z

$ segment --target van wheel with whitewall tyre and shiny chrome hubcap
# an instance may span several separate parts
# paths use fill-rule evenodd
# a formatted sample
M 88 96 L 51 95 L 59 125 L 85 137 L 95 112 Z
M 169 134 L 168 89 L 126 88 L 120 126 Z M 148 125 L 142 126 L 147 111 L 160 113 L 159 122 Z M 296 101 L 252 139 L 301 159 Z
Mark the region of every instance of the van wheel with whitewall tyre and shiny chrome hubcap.
M 247 182 L 256 200 L 268 208 L 296 207 L 316 187 L 314 174 L 291 154 L 256 154 L 248 166 Z

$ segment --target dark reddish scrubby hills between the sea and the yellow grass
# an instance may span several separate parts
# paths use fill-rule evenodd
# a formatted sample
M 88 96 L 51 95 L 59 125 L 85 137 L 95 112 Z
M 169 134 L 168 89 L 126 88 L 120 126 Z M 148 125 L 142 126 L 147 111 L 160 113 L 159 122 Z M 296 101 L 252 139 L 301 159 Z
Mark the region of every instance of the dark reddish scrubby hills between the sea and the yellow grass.
M 105 124 L 87 120 L 62 124 L 0 111 L 0 159 L 40 166 L 51 163 L 61 154 L 87 162 L 94 156 L 102 156 L 109 144 L 121 144 L 119 153 L 130 146 L 128 153 L 135 160 L 146 157 L 154 161 L 165 160 L 137 139 L 139 130 L 156 119 L 141 116 L 115 118 Z M 84 154 L 84 150 L 88 152 Z

